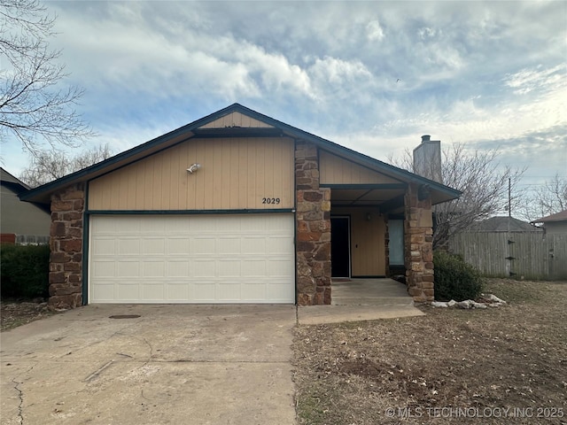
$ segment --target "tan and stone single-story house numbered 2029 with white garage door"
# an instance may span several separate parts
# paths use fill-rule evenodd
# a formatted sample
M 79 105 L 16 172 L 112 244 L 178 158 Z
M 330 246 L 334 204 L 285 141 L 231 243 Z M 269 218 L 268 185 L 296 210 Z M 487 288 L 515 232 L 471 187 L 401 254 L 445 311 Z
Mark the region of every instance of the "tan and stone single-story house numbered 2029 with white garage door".
M 323 305 L 400 262 L 432 300 L 431 205 L 459 194 L 232 104 L 21 198 L 52 212 L 51 305 Z

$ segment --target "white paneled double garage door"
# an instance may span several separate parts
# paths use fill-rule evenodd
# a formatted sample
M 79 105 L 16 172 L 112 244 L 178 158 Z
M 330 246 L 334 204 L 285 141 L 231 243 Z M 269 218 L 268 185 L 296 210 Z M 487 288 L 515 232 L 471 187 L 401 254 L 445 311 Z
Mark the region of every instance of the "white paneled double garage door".
M 89 303 L 294 303 L 291 214 L 90 217 Z

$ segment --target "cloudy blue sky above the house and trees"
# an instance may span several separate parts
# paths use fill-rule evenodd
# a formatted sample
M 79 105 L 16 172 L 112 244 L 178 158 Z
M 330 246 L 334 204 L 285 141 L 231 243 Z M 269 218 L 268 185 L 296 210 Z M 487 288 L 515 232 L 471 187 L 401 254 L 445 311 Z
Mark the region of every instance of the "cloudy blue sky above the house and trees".
M 114 153 L 233 104 L 389 161 L 421 135 L 567 178 L 567 2 L 56 2 L 66 84 Z M 4 168 L 28 164 L 15 139 Z M 71 154 L 81 151 L 67 149 Z

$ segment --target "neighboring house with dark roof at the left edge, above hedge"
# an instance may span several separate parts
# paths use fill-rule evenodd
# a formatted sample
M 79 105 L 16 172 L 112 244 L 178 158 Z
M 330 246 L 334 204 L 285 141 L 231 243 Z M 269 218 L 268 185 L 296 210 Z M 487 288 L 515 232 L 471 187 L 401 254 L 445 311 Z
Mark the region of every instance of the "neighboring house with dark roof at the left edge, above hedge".
M 34 205 L 19 200 L 29 187 L 4 168 L 0 168 L 0 233 L 2 242 L 49 243 L 49 205 Z

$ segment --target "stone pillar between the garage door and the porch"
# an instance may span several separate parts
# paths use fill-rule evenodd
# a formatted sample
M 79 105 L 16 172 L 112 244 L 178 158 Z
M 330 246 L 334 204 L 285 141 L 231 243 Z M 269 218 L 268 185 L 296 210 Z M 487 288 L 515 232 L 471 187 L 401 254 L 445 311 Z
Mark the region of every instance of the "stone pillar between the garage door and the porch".
M 315 145 L 296 143 L 295 177 L 298 304 L 330 304 L 330 189 L 319 187 Z

